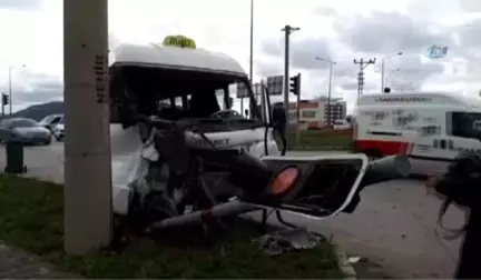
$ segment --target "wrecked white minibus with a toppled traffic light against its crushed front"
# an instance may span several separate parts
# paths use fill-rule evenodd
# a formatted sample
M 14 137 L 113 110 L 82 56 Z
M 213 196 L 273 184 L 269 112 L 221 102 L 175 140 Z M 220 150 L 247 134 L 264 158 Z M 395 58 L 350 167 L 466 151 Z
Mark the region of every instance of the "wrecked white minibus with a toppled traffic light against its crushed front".
M 109 53 L 112 207 L 134 227 L 266 206 L 326 218 L 352 212 L 362 187 L 409 173 L 402 158 L 369 164 L 364 154 L 282 157 L 276 124 L 257 106 L 251 119 L 228 113 L 237 83 L 256 102 L 242 67 L 181 47 L 120 44 Z

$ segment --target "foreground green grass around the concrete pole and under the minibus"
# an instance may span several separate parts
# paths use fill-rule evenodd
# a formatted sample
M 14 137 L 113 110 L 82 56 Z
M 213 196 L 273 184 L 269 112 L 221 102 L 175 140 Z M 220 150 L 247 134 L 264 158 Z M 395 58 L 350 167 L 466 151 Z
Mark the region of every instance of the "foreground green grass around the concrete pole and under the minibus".
M 245 221 L 237 222 L 236 230 L 209 247 L 200 246 L 189 231 L 174 239 L 137 238 L 119 254 L 104 251 L 86 257 L 66 256 L 62 196 L 61 186 L 0 174 L 0 240 L 91 280 L 343 278 L 331 244 L 271 258 L 252 242 L 261 236 L 258 226 Z M 192 242 L 184 243 L 187 238 Z

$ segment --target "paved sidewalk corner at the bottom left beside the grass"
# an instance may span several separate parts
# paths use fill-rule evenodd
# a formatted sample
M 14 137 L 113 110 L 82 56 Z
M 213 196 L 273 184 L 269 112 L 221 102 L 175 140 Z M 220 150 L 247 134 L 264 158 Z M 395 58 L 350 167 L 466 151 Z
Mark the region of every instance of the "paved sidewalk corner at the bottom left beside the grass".
M 86 280 L 0 241 L 0 280 Z

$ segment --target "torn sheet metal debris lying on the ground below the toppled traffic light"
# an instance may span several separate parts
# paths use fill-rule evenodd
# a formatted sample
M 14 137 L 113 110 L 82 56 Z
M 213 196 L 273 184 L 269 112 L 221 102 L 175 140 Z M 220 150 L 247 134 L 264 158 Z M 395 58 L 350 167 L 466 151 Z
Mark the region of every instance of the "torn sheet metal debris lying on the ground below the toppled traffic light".
M 313 249 L 325 242 L 326 238 L 304 228 L 297 228 L 267 233 L 255 241 L 264 253 L 274 257 L 289 251 Z

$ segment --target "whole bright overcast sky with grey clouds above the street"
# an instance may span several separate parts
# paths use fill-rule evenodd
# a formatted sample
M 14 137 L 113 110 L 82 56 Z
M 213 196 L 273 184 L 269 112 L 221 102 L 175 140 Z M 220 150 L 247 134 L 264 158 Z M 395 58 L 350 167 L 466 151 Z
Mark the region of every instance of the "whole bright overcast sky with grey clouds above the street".
M 62 99 L 62 2 L 0 0 L 0 90 L 8 92 L 13 66 L 13 110 Z M 478 97 L 481 89 L 480 1 L 255 0 L 255 80 L 283 73 L 285 24 L 301 28 L 291 37 L 291 73 L 303 74 L 303 98 L 327 92 L 328 63 L 315 57 L 337 62 L 333 94 L 352 106 L 359 71 L 353 59 L 377 59 L 365 70 L 369 93 L 380 91 L 381 58 L 400 51 L 385 63 L 393 90 Z M 233 56 L 248 71 L 248 0 L 110 0 L 109 28 L 117 42 L 161 42 L 181 33 Z M 425 58 L 432 44 L 448 46 L 448 56 Z

